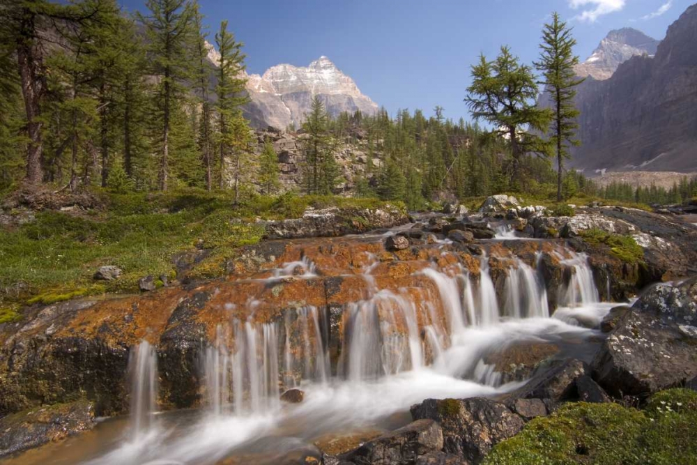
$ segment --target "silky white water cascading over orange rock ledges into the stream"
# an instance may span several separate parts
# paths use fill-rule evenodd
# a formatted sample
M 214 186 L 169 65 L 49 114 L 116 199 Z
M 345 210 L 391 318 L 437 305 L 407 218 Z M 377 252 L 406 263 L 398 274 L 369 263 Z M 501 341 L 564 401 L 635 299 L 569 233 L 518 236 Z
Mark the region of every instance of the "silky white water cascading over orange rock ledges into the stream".
M 273 437 L 273 450 L 276 437 L 313 441 L 318 432 L 374 427 L 427 397 L 493 396 L 510 390 L 517 385 L 502 384 L 508 378 L 497 372 L 498 362 L 489 354 L 516 342 L 593 334 L 578 326 L 579 313 L 599 300 L 590 266 L 583 254 L 563 252 L 560 261 L 572 272 L 558 301 L 573 307 L 576 313 L 569 318 L 563 317 L 571 315 L 566 308 L 549 318 L 539 271 L 542 252 L 537 266 L 512 259 L 505 278 L 495 275 L 505 279 L 497 281 L 503 284 L 500 300 L 487 254 L 479 257 L 478 272 L 452 262 L 442 268 L 434 264 L 413 273 L 420 276 L 417 281 L 405 279 L 406 287 L 397 281 L 383 289 L 378 283 L 390 281 L 372 275 L 383 270 L 382 257 L 365 251 L 361 253 L 368 253 L 368 260 L 354 270 L 365 284 L 363 300 L 346 303 L 338 316 L 332 308 L 331 323 L 328 308 L 304 303 L 293 303 L 274 321 L 256 321 L 267 314 L 263 294 L 249 296 L 250 316 L 220 325 L 215 344 L 201 351 L 208 415 L 176 434 L 160 428 L 162 436 L 137 452 L 95 463 L 215 464 L 255 438 Z M 432 261 L 441 263 L 449 253 L 438 252 Z M 312 261 L 300 256 L 302 260 L 278 268 L 275 277 L 316 275 Z M 424 278 L 430 282 L 421 286 Z M 413 282 L 419 284 L 408 287 Z M 221 303 L 221 309 L 240 314 L 232 303 Z M 130 365 L 137 374 L 132 431 L 143 436 L 155 409 L 155 351 L 143 342 L 132 350 Z M 282 389 L 293 387 L 305 392 L 305 400 L 282 407 Z

